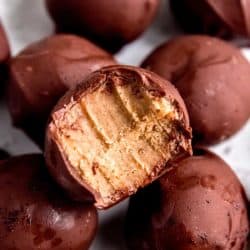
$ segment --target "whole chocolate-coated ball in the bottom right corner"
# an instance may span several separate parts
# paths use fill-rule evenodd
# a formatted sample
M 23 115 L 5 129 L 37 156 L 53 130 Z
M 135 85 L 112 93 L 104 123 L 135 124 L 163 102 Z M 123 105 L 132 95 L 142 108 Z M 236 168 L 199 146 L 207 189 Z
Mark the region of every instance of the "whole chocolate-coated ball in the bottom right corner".
M 245 249 L 249 225 L 242 186 L 220 158 L 197 153 L 131 198 L 128 249 Z

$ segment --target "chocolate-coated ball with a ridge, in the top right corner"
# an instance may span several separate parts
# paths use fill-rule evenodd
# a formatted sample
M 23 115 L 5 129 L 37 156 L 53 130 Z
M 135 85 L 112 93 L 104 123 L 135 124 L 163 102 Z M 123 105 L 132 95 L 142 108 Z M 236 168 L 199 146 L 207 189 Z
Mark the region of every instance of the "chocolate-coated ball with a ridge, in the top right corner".
M 170 6 L 187 32 L 250 37 L 249 0 L 171 0 Z

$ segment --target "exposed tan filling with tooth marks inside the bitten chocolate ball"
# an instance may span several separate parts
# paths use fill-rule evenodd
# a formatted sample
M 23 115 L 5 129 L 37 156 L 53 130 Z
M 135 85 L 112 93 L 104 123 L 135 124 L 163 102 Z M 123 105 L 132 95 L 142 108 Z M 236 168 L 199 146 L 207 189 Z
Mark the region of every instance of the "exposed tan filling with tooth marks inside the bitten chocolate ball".
M 136 83 L 103 86 L 58 112 L 63 119 L 52 124 L 57 142 L 80 178 L 99 193 L 99 207 L 152 181 L 186 147 L 176 129 L 176 107 Z

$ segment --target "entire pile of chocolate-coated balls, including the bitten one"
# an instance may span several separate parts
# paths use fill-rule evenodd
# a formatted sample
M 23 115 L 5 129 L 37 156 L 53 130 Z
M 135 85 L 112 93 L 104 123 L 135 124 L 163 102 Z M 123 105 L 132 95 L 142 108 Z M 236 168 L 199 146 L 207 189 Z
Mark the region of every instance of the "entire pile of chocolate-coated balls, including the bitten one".
M 206 35 L 172 38 L 140 67 L 110 52 L 146 30 L 160 0 L 44 2 L 57 34 L 16 56 L 0 25 L 1 94 L 43 153 L 0 150 L 0 249 L 87 250 L 97 209 L 128 197 L 129 250 L 245 249 L 244 188 L 205 146 L 250 117 L 249 62 L 208 36 L 249 37 L 250 0 L 170 1 L 185 31 Z

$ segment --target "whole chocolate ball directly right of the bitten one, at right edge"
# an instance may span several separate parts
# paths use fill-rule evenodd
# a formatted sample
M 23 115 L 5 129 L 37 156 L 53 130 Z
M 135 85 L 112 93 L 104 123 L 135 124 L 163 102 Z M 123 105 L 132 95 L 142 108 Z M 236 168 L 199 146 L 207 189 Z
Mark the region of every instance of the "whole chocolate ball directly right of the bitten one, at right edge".
M 143 67 L 177 87 L 196 143 L 221 142 L 250 117 L 250 64 L 228 43 L 208 36 L 175 38 L 157 48 Z

